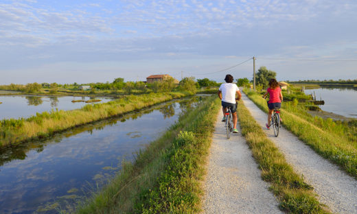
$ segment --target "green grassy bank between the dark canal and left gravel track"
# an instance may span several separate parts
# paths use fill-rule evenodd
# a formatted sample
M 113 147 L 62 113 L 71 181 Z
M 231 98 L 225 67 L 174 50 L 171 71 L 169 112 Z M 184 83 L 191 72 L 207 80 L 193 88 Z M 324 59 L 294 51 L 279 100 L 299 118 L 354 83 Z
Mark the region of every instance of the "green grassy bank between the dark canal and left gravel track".
M 120 173 L 78 213 L 198 213 L 200 182 L 218 113 L 209 97 L 125 163 Z

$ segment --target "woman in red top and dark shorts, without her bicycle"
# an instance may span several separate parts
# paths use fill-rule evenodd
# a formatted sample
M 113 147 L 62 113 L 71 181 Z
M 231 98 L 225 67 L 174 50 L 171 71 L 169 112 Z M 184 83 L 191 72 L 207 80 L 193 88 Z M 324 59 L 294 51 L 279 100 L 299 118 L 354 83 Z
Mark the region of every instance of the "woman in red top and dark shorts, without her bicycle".
M 279 86 L 279 83 L 274 78 L 270 79 L 269 88 L 266 90 L 266 93 L 263 95 L 263 98 L 265 98 L 268 94 L 270 97 L 268 101 L 268 123 L 266 123 L 265 126 L 269 129 L 273 110 L 274 108 L 281 108 L 281 101 L 283 100 L 283 95 L 281 94 L 281 88 Z

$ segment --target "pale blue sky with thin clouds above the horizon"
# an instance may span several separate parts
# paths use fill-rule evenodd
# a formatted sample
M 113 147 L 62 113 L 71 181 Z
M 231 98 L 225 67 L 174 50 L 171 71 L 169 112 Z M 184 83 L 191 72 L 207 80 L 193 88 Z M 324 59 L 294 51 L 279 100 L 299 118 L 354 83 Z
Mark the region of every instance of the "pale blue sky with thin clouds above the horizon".
M 354 80 L 356 26 L 355 0 L 0 0 L 0 84 L 251 80 L 253 56 L 278 80 Z

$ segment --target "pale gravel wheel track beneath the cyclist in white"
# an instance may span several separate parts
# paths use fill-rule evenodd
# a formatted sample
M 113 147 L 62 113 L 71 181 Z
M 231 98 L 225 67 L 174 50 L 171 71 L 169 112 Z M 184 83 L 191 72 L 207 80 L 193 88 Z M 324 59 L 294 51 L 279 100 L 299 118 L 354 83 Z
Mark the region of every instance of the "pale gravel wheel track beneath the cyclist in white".
M 244 137 L 232 133 L 227 140 L 220 119 L 222 112 L 210 148 L 203 213 L 282 213 Z

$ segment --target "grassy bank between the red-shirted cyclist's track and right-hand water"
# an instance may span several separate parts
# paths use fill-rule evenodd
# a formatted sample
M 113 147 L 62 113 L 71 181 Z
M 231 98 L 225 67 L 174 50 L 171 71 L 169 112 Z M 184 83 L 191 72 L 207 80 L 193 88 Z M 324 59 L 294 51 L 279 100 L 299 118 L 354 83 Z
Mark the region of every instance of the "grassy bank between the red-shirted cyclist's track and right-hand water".
M 259 108 L 268 112 L 266 101 L 260 94 L 246 91 Z M 332 119 L 312 117 L 305 110 L 290 102 L 281 109 L 283 125 L 312 149 L 339 165 L 357 178 L 357 126 L 356 122 L 341 123 Z M 350 126 L 349 126 L 349 123 Z

